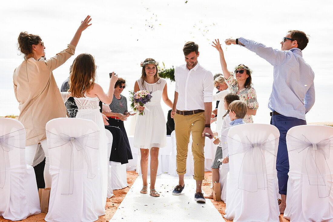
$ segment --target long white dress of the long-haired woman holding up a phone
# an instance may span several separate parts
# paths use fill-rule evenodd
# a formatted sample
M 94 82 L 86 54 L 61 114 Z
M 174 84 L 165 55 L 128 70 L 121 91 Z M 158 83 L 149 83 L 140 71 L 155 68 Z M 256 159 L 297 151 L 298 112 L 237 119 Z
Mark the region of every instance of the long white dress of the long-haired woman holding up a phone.
M 74 97 L 75 103 L 78 106 L 78 113 L 76 118 L 82 119 L 90 119 L 93 120 L 100 129 L 100 145 L 99 145 L 99 161 L 98 167 L 101 170 L 101 188 L 97 188 L 101 192 L 101 198 L 98 198 L 100 201 L 96 203 L 95 210 L 98 216 L 105 215 L 105 205 L 107 198 L 107 190 L 108 190 L 108 161 L 105 158 L 108 155 L 108 147 L 107 147 L 107 138 L 104 127 L 104 121 L 102 117 L 102 113 L 100 112 L 99 102 L 100 99 L 98 97 Z

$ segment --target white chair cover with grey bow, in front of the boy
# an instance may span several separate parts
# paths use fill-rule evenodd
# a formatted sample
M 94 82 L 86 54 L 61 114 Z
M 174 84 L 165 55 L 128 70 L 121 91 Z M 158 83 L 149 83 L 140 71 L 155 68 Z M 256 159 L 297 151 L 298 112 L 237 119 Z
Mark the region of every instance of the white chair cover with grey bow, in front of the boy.
M 269 124 L 242 124 L 229 129 L 226 219 L 279 221 L 276 199 L 279 136 L 279 130 Z

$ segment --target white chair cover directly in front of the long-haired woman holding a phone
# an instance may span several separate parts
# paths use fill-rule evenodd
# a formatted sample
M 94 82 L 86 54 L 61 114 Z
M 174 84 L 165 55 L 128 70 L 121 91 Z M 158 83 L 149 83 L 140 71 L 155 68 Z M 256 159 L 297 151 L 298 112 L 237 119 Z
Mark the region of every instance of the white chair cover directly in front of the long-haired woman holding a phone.
M 98 169 L 100 131 L 92 121 L 56 118 L 46 123 L 52 185 L 46 221 L 95 221 L 103 215 Z

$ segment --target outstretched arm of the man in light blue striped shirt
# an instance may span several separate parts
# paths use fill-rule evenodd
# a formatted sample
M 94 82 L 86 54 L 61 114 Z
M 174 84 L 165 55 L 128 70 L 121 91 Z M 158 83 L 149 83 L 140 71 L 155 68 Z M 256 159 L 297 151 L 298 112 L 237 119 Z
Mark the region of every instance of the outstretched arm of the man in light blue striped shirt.
M 236 39 L 226 39 L 225 44 L 236 45 Z M 244 46 L 246 49 L 254 52 L 272 66 L 281 64 L 287 57 L 285 51 L 273 49 L 272 47 L 267 47 L 264 44 L 249 39 L 238 38 L 238 45 Z

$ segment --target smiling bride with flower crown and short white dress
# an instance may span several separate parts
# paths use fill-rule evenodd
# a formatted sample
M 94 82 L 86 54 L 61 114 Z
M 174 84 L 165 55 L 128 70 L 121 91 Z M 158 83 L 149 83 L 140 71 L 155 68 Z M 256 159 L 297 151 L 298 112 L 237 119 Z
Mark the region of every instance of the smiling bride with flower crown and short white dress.
M 161 98 L 172 109 L 172 102 L 167 96 L 166 80 L 159 77 L 157 65 L 158 63 L 151 58 L 141 63 L 142 76 L 134 85 L 134 92 L 140 90 L 153 92 L 151 102 L 144 107 L 134 104 L 139 112 L 145 111 L 144 115 L 138 115 L 134 133 L 134 147 L 140 148 L 141 153 L 143 188 L 140 193 L 148 193 L 147 170 L 150 153 L 150 195 L 153 197 L 160 196 L 155 190 L 158 157 L 160 147 L 166 146 L 166 119 L 161 106 Z

